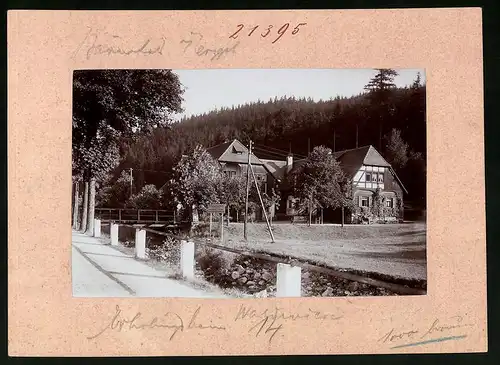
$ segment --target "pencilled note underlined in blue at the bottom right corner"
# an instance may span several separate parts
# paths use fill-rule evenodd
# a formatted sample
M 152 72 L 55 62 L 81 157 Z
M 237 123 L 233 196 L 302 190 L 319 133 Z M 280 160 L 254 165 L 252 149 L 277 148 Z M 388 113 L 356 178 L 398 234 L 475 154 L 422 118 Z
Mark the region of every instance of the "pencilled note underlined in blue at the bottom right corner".
M 391 328 L 390 331 L 386 332 L 379 340 L 380 343 L 396 345 L 393 348 L 407 347 L 423 345 L 432 342 L 442 342 L 445 340 L 459 339 L 465 336 L 451 336 L 442 337 L 453 334 L 457 329 L 464 329 L 472 327 L 470 323 L 465 323 L 462 316 L 453 316 L 447 320 L 435 319 L 428 326 L 421 328 L 407 328 L 404 330 L 396 330 Z M 430 337 L 436 337 L 429 339 Z M 441 337 L 439 337 L 441 336 Z M 402 341 L 410 341 L 405 344 L 401 344 Z

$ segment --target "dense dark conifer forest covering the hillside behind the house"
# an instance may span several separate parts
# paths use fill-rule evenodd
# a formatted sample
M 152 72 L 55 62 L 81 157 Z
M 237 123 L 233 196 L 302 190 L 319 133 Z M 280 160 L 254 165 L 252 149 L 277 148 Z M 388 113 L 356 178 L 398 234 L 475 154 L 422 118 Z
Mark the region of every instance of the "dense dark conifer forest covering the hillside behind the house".
M 234 138 L 252 139 L 262 158 L 284 159 L 289 151 L 306 156 L 320 145 L 340 151 L 371 144 L 394 161 L 389 144 L 397 130 L 395 143 L 402 145 L 404 163 L 394 167 L 409 192 L 406 199 L 425 206 L 425 85 L 418 77 L 413 85 L 392 87 L 383 95 L 369 86 L 349 98 L 281 97 L 183 118 L 123 144 L 123 159 L 113 174 L 117 178 L 132 168 L 134 192 L 146 184 L 161 187 L 182 154 L 198 144 L 210 147 Z

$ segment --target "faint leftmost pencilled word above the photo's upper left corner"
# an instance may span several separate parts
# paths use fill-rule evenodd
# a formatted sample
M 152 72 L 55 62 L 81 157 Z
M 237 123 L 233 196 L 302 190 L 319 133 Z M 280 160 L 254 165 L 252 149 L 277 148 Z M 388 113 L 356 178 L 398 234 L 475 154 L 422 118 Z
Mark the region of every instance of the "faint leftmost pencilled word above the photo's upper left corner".
M 163 55 L 165 42 L 164 37 L 144 38 L 137 42 L 130 42 L 118 34 L 89 27 L 85 37 L 73 53 L 73 58 L 80 54 L 80 52 L 83 52 L 87 60 L 94 56 Z

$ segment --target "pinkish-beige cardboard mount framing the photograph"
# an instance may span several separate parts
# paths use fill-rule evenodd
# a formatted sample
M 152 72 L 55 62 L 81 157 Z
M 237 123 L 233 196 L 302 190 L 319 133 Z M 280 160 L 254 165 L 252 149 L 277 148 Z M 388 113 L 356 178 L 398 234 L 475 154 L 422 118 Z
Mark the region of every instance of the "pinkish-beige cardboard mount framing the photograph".
M 427 295 L 73 298 L 72 74 L 103 68 L 424 68 Z M 482 68 L 479 8 L 10 11 L 9 354 L 486 351 Z

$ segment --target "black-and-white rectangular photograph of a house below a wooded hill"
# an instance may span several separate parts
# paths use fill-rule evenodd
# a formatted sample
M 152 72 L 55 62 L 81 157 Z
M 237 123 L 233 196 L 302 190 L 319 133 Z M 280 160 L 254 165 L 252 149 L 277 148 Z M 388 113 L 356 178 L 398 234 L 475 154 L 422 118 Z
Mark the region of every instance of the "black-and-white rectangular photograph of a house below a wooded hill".
M 73 72 L 76 297 L 425 295 L 424 69 Z

